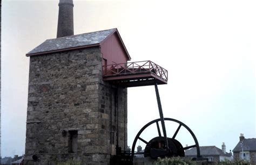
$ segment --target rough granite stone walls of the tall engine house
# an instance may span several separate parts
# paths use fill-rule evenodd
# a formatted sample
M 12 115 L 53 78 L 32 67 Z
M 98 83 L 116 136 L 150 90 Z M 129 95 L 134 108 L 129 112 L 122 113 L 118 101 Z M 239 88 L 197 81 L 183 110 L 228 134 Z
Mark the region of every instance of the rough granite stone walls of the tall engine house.
M 117 135 L 126 148 L 127 91 L 102 80 L 99 47 L 30 57 L 24 164 L 109 164 Z

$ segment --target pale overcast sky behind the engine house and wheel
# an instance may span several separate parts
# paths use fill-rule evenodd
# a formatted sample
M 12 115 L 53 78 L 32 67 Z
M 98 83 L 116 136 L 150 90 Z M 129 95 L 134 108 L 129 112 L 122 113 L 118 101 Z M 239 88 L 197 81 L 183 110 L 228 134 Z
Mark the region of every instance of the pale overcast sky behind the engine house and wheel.
M 225 142 L 232 150 L 256 138 L 255 1 L 75 1 L 75 34 L 117 27 L 132 61 L 151 60 L 169 71 L 159 92 L 164 117 L 182 121 L 200 146 Z M 2 2 L 2 157 L 25 150 L 29 58 L 56 38 L 58 1 Z M 128 89 L 128 146 L 159 118 L 154 87 Z M 166 124 L 172 136 L 175 124 Z M 150 140 L 152 128 L 145 131 Z M 185 130 L 181 144 L 192 145 Z M 139 142 L 144 146 L 143 142 Z M 137 144 L 138 145 L 138 144 Z

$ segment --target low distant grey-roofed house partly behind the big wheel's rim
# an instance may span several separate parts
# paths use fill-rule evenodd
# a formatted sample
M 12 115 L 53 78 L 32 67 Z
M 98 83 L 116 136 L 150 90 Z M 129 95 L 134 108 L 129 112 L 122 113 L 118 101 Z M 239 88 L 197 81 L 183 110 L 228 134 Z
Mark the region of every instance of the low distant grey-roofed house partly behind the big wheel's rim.
M 232 153 L 226 152 L 226 145 L 223 143 L 221 145 L 222 149 L 219 149 L 215 146 L 201 146 L 200 148 L 200 154 L 202 157 L 205 157 L 208 159 L 208 161 L 215 161 L 220 162 L 224 160 L 232 160 L 233 156 Z M 197 157 L 197 148 L 191 148 L 185 150 L 185 156 L 186 157 Z

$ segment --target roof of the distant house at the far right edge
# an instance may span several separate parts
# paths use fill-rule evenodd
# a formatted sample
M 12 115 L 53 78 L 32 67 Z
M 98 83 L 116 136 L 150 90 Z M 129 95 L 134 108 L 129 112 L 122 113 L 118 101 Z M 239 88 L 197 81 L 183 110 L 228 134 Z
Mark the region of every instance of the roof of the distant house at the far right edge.
M 237 146 L 235 146 L 235 148 L 233 149 L 233 152 L 240 152 L 242 151 L 242 149 L 244 151 L 256 151 L 256 138 L 244 139 L 242 141 L 239 141 Z

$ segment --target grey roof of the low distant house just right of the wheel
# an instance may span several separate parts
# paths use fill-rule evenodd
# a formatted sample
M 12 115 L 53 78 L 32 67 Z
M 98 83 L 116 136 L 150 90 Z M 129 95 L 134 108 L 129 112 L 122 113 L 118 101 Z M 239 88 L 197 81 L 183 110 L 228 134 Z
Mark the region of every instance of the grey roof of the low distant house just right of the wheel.
M 230 153 L 224 154 L 221 149 L 215 146 L 201 146 L 200 154 L 202 156 L 231 156 Z M 191 149 L 185 150 L 185 156 L 196 156 L 197 155 L 197 148 L 193 147 Z

